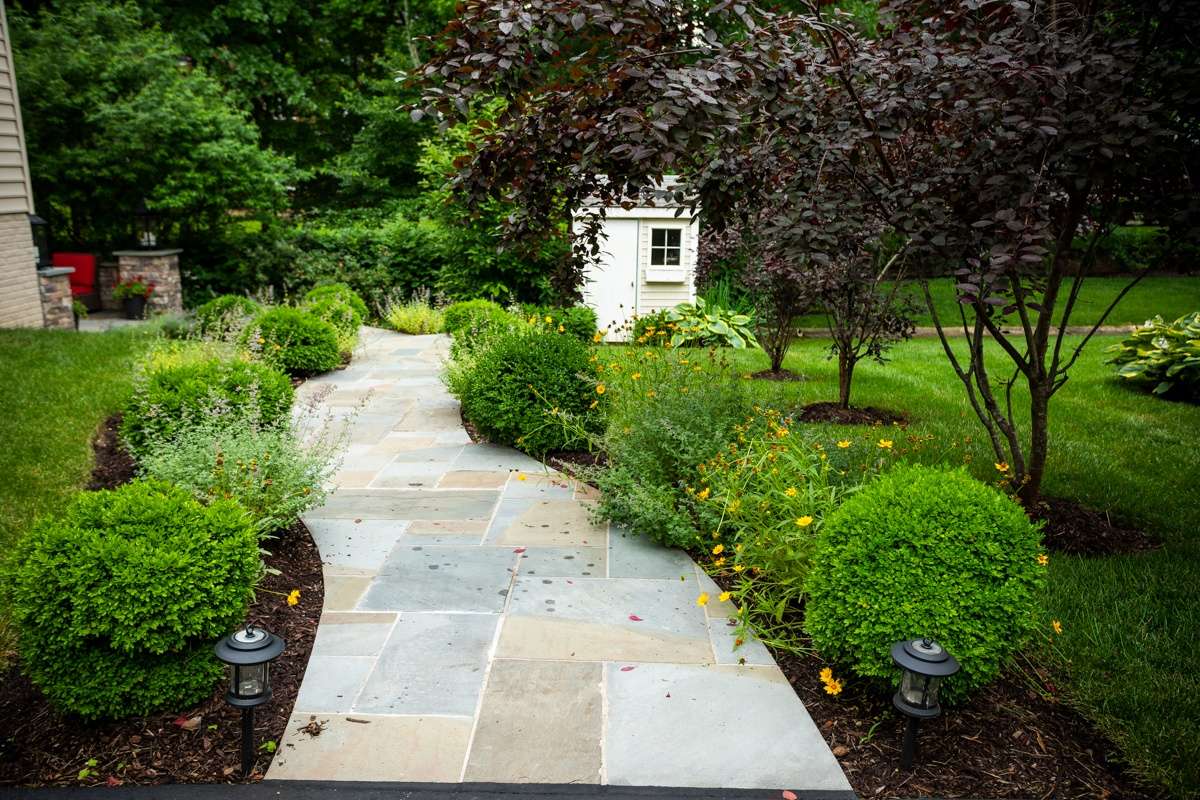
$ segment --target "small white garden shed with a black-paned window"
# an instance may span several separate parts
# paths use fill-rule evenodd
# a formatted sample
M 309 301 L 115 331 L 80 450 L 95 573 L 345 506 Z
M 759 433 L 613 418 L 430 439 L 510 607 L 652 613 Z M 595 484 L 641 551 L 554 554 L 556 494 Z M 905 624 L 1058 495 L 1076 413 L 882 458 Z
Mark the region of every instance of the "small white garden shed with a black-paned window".
M 664 187 L 673 184 L 667 178 Z M 641 203 L 605 209 L 600 258 L 583 273 L 583 302 L 596 312 L 608 342 L 628 341 L 635 317 L 696 299 L 698 210 L 660 198 L 653 206 Z M 598 213 L 596 206 L 576 210 L 575 231 Z

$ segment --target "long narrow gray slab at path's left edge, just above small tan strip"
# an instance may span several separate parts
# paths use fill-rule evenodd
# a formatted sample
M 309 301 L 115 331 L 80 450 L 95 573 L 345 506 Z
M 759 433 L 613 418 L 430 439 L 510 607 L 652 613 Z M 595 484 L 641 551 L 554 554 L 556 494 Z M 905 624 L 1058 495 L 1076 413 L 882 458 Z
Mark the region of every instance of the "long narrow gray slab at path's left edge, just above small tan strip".
M 342 489 L 307 516 L 331 519 L 487 519 L 498 498 L 499 492 L 482 489 Z

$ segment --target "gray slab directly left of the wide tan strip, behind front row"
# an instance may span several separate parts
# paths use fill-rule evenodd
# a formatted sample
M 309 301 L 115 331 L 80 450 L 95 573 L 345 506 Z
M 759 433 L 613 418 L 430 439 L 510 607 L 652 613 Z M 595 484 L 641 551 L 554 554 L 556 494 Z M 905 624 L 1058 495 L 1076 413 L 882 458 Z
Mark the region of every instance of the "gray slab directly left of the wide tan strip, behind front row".
M 473 716 L 498 620 L 496 614 L 402 614 L 354 710 Z

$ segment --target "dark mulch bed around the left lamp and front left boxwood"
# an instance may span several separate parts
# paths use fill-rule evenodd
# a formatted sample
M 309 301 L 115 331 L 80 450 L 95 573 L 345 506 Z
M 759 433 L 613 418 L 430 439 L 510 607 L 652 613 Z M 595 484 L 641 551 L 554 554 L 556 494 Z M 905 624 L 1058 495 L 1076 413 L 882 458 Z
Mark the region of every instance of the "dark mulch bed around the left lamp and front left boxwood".
M 259 742 L 278 742 L 308 664 L 324 588 L 320 557 L 302 524 L 265 546 L 266 564 L 282 575 L 264 578 L 247 619 L 282 636 L 287 650 L 271 666 L 275 697 L 256 709 L 254 733 Z M 281 595 L 293 589 L 300 603 L 289 607 Z M 0 674 L 0 786 L 241 782 L 241 715 L 226 704 L 224 691 L 223 684 L 214 687 L 192 708 L 88 724 L 50 709 L 12 666 Z M 94 775 L 79 780 L 89 759 L 96 760 Z M 260 750 L 251 780 L 260 780 L 270 762 Z

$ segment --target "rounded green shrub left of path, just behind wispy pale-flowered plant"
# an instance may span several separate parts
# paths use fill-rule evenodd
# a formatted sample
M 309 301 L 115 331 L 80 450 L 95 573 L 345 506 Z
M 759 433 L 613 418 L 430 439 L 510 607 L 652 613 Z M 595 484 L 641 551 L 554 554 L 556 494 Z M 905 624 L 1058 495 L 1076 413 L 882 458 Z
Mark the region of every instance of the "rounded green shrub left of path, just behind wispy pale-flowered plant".
M 280 425 L 293 395 L 292 381 L 269 365 L 194 344 L 162 347 L 139 369 L 121 437 L 139 455 L 151 440 L 172 440 L 205 417 Z

